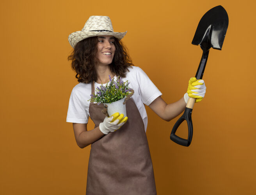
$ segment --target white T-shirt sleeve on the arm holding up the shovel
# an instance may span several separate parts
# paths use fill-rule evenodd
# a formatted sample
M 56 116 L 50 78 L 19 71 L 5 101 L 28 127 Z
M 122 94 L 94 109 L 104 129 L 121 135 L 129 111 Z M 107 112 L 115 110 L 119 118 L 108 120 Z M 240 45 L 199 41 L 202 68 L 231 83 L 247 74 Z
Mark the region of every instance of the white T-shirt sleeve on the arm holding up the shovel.
M 136 79 L 139 83 L 140 98 L 145 105 L 150 105 L 156 97 L 162 95 L 160 90 L 158 90 L 148 75 L 140 67 L 137 69 Z

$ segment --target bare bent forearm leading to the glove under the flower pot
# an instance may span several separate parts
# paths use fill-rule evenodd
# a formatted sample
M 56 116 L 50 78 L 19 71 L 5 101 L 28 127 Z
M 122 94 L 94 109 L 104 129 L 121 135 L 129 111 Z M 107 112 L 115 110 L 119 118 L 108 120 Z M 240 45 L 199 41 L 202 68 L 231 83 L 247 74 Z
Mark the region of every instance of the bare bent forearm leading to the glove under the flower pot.
M 103 137 L 105 134 L 103 134 L 100 131 L 99 127 L 96 127 L 95 129 L 92 129 L 91 131 L 83 131 L 80 133 L 77 139 L 77 144 L 80 148 L 84 148 L 87 145 L 92 144 L 93 142 L 97 141 L 101 137 Z

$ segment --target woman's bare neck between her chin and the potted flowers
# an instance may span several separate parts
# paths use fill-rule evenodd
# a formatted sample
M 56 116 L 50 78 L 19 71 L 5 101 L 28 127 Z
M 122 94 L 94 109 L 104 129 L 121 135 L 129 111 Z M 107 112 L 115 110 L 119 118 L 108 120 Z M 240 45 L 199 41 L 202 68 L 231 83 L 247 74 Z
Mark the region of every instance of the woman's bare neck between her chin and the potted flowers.
M 102 84 L 107 83 L 109 81 L 108 75 L 110 75 L 111 78 L 115 76 L 114 73 L 110 71 L 110 68 L 108 65 L 107 66 L 96 65 L 95 67 L 96 67 L 96 73 L 97 73 L 97 80 L 96 80 L 97 83 L 102 83 Z

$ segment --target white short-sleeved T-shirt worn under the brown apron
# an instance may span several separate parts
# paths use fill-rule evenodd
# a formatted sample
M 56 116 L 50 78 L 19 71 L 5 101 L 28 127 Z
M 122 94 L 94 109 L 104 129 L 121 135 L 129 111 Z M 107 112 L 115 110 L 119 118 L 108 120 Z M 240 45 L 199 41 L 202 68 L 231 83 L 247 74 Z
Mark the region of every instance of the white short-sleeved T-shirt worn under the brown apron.
M 148 126 L 148 115 L 144 104 L 147 106 L 150 105 L 156 97 L 161 96 L 162 93 L 140 67 L 131 66 L 129 67 L 129 70 L 130 72 L 127 72 L 126 77 L 122 78 L 122 80 L 124 82 L 128 80 L 128 82 L 130 82 L 129 87 L 134 90 L 132 99 L 140 112 L 146 131 Z M 116 80 L 116 76 L 114 76 L 114 78 Z M 94 89 L 99 86 L 99 83 L 94 83 Z M 66 122 L 88 123 L 90 105 L 90 101 L 88 100 L 91 98 L 90 94 L 91 83 L 78 83 L 73 88 L 69 99 Z

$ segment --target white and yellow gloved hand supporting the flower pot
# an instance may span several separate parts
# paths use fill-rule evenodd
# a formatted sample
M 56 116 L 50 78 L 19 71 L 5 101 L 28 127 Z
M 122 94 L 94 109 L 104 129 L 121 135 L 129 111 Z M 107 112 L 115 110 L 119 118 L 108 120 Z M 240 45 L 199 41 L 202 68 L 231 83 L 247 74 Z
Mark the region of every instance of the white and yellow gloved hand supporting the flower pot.
M 109 132 L 114 132 L 121 128 L 127 120 L 128 117 L 124 117 L 123 114 L 116 112 L 110 117 L 105 117 L 104 121 L 100 123 L 100 131 L 107 135 Z

